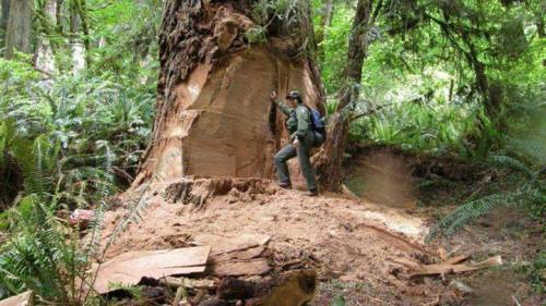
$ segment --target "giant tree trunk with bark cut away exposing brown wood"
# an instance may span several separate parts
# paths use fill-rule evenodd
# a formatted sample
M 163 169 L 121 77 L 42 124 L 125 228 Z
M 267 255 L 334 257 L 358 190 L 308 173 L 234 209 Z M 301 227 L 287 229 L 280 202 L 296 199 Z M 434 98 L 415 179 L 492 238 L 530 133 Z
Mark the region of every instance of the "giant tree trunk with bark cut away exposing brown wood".
M 274 20 L 268 41 L 250 46 L 253 2 L 166 2 L 154 131 L 135 186 L 182 175 L 273 178 L 273 156 L 287 135 L 270 93 L 296 88 L 323 110 L 314 62 L 301 52 L 314 46 L 309 7 L 299 5 L 295 26 L 308 33 Z

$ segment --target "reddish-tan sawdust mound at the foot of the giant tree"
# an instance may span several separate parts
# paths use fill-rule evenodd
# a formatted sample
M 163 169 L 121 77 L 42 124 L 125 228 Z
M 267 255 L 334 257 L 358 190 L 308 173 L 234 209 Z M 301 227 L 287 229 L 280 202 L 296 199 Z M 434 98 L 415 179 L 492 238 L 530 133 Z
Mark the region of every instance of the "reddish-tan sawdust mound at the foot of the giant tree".
M 275 188 L 268 180 L 244 181 L 176 180 L 155 186 L 159 192 L 146 199 L 143 220 L 116 240 L 108 257 L 135 249 L 217 245 L 245 234 L 263 234 L 272 237 L 269 247 L 275 249 L 277 262 L 314 261 L 323 282 L 340 279 L 370 284 L 373 290 L 367 294 L 384 304 L 369 305 L 418 305 L 432 299 L 428 294 L 404 296 L 415 287 L 408 284 L 404 267 L 395 264 L 430 257 L 431 252 L 419 243 L 427 229 L 418 219 L 336 195 L 305 197 L 298 191 Z M 199 192 L 200 186 L 216 192 L 193 197 L 198 199 L 193 205 L 182 200 L 192 196 L 179 196 L 209 195 Z M 170 195 L 169 200 L 165 195 Z M 106 235 L 116 232 L 117 220 L 129 209 L 107 212 Z M 401 298 L 410 299 L 404 304 Z M 323 305 L 320 301 L 329 297 L 317 301 L 314 305 Z

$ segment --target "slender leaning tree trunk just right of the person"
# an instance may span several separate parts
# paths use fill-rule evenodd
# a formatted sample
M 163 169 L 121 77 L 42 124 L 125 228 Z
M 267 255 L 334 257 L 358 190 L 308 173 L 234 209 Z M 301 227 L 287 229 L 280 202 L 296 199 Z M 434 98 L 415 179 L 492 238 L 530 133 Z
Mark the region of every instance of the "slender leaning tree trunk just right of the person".
M 345 68 L 345 86 L 340 90 L 340 102 L 330 119 L 328 139 L 316 160 L 319 181 L 327 188 L 337 191 L 343 180 L 343 155 L 347 146 L 349 114 L 359 95 L 363 65 L 368 48 L 367 30 L 370 26 L 371 0 L 358 0 L 351 28 Z

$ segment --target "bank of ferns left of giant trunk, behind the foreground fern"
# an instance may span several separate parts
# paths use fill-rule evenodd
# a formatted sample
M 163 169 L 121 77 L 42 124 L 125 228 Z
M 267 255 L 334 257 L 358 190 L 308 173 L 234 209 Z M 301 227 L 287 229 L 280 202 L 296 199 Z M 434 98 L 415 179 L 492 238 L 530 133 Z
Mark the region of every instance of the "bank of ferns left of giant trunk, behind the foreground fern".
M 154 95 L 147 86 L 108 75 L 61 76 L 49 83 L 16 83 L 14 77 L 0 88 L 0 148 L 17 161 L 27 193 L 48 186 L 73 208 L 93 203 L 97 186 L 112 175 L 119 186 L 132 180 L 151 133 Z M 97 168 L 97 154 L 106 150 L 111 173 Z M 32 173 L 37 161 L 52 184 Z

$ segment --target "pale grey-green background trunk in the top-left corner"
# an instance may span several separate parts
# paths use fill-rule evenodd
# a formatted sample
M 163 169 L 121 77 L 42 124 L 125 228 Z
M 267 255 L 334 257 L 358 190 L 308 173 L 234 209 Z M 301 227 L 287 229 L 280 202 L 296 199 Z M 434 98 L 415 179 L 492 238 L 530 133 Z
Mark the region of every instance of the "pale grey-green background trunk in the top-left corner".
M 13 58 L 15 50 L 31 52 L 33 7 L 34 0 L 11 0 L 5 32 L 5 59 Z

